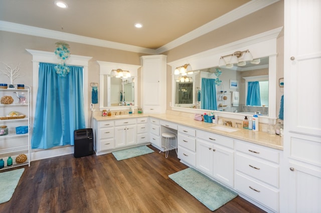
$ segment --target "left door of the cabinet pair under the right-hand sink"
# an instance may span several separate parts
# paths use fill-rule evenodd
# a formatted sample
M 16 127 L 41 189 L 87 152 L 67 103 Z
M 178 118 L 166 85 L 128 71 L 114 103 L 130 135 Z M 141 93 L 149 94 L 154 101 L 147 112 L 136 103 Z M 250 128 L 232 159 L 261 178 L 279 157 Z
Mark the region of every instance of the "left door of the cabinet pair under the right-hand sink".
M 196 167 L 213 175 L 213 143 L 198 140 L 196 145 Z

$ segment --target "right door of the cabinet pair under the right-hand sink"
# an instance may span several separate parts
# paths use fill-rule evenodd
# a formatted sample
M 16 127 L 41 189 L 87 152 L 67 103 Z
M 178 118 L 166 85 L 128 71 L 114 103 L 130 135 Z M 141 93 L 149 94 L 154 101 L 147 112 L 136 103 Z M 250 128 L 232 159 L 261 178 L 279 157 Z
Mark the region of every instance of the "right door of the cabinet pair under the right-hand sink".
M 233 187 L 233 150 L 213 146 L 213 176 Z

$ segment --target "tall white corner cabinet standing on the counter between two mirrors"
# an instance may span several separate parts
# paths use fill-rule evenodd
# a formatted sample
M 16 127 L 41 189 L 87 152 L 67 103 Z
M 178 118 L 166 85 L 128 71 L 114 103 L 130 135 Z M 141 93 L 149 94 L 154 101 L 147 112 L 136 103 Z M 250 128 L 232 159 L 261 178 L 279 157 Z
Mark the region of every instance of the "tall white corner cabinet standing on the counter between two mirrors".
M 142 107 L 145 113 L 166 112 L 166 55 L 141 56 Z

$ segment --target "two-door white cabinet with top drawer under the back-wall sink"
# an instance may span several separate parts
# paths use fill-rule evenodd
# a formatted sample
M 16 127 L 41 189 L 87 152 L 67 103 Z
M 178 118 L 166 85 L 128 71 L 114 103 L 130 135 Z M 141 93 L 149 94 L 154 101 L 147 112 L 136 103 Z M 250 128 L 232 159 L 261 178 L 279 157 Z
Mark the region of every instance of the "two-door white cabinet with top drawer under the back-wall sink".
M 115 120 L 115 147 L 137 143 L 136 118 Z

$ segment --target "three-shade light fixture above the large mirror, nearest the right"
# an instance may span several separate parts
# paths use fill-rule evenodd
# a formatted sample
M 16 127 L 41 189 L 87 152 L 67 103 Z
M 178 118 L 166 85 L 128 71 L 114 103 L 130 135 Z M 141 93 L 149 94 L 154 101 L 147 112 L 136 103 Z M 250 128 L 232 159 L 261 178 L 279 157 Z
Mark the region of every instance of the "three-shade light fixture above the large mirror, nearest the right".
M 243 56 L 243 58 L 241 58 Z M 225 58 L 229 57 L 228 63 Z M 224 56 L 221 56 L 219 59 L 219 66 L 225 66 L 228 68 L 233 67 L 233 64 L 237 63 L 240 64 L 241 66 L 246 65 L 246 61 L 253 60 L 253 56 L 251 52 L 246 49 L 244 51 L 236 51 L 232 54 L 227 54 Z

